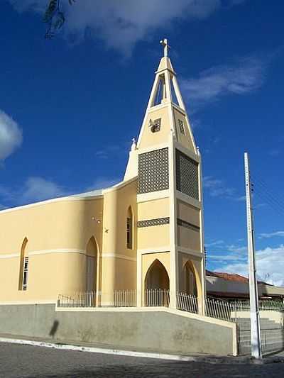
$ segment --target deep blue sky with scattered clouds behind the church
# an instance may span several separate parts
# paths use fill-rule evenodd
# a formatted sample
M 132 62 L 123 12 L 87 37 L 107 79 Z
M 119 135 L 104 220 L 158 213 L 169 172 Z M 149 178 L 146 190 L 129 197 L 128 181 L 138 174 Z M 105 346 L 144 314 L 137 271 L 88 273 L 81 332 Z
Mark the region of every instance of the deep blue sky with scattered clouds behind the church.
M 248 150 L 258 274 L 284 285 L 283 1 L 62 0 L 53 40 L 46 4 L 0 4 L 1 208 L 119 182 L 168 37 L 203 156 L 207 267 L 247 272 Z

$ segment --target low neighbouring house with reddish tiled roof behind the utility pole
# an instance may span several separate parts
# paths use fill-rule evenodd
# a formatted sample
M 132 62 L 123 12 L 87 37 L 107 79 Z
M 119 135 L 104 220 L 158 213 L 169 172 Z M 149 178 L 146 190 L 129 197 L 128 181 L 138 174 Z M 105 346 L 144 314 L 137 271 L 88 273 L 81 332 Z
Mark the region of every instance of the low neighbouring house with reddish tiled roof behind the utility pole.
M 249 279 L 239 274 L 206 271 L 207 296 L 229 301 L 249 299 Z M 284 301 L 284 287 L 258 281 L 260 299 Z

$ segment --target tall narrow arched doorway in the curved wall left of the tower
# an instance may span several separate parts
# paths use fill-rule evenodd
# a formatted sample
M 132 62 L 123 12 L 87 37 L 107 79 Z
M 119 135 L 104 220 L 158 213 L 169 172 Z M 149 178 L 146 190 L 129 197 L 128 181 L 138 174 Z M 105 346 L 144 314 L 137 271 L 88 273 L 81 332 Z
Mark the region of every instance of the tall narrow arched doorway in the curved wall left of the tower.
M 97 242 L 94 236 L 89 239 L 86 248 L 86 290 L 97 291 Z

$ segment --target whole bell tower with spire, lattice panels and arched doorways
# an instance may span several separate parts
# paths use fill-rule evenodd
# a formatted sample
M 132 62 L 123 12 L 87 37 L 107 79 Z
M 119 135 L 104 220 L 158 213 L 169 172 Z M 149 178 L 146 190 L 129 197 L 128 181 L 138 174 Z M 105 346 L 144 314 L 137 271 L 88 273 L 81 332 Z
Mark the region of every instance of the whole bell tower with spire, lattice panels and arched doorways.
M 133 140 L 124 180 L 138 177 L 137 292 L 164 289 L 198 297 L 204 313 L 204 231 L 200 151 L 164 48 L 138 142 Z

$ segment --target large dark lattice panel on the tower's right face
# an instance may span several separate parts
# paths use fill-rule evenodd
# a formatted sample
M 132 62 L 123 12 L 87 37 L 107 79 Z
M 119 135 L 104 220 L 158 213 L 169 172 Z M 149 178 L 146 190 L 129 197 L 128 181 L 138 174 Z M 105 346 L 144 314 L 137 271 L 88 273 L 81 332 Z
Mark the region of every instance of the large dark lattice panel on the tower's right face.
M 199 200 L 198 163 L 176 150 L 177 190 Z

